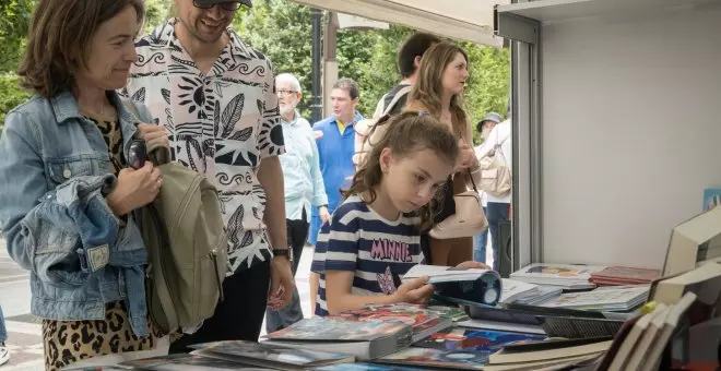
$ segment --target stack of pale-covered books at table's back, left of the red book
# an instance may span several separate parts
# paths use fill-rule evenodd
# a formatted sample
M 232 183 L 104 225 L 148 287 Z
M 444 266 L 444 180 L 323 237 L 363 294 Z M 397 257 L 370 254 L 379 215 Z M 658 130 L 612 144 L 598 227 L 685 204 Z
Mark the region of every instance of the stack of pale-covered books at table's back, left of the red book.
M 582 290 L 594 288 L 591 274 L 603 270 L 605 266 L 536 263 L 511 273 L 510 278 L 565 290 Z

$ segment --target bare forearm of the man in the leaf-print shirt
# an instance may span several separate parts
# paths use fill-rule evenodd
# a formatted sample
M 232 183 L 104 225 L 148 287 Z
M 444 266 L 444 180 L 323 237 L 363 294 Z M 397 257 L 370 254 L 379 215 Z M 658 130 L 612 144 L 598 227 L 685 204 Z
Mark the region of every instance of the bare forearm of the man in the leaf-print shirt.
M 263 222 L 268 227 L 271 247 L 273 249 L 287 249 L 283 170 L 277 156 L 263 158 L 258 170 L 258 181 L 265 191 Z

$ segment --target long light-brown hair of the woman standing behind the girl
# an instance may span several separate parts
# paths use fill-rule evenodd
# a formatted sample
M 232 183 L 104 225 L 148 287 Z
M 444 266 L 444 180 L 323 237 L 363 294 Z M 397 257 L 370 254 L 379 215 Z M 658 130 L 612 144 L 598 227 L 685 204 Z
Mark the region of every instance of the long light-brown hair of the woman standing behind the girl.
M 469 56 L 460 47 L 448 41 L 438 43 L 423 55 L 418 67 L 418 80 L 409 95 L 409 110 L 427 109 L 432 116 L 440 119 L 442 106 L 440 98 L 444 95 L 444 72 L 446 68 L 461 53 L 468 63 Z M 464 137 L 468 115 L 463 108 L 463 96 L 453 95 L 450 101 L 450 111 L 456 116 L 460 125 L 453 128 L 459 137 Z M 468 140 L 468 139 L 466 139 Z

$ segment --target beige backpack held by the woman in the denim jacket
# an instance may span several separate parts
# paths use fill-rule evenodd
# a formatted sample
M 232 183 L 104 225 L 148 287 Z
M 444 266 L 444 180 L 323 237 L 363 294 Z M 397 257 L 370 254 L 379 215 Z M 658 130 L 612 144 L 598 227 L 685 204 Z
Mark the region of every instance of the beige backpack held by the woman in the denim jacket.
M 197 327 L 223 300 L 228 240 L 217 191 L 205 176 L 169 161 L 165 147 L 149 148 L 149 159 L 163 177 L 157 198 L 141 210 L 149 311 L 164 333 Z

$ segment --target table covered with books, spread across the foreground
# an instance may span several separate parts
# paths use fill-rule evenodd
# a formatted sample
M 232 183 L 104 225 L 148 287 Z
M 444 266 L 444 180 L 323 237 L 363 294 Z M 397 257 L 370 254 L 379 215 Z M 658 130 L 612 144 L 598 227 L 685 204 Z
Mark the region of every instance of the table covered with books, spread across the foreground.
M 305 319 L 260 343 L 199 344 L 189 355 L 104 369 L 667 370 L 684 361 L 674 343 L 685 339 L 688 348 L 699 336 L 694 325 L 718 316 L 721 303 L 719 262 L 662 279 L 651 270 L 532 264 L 497 277 L 498 286 L 486 273 L 425 270 L 438 274 L 426 306 L 369 306 Z M 438 289 L 442 284 L 465 285 L 485 298 Z M 494 287 L 503 289 L 488 306 L 493 292 L 483 290 Z M 704 370 L 693 364 L 686 369 Z

